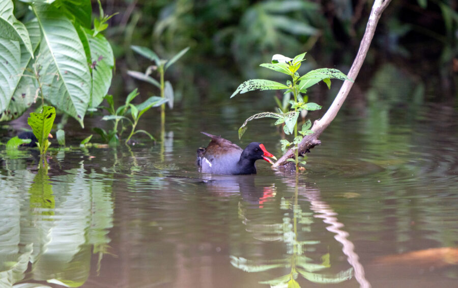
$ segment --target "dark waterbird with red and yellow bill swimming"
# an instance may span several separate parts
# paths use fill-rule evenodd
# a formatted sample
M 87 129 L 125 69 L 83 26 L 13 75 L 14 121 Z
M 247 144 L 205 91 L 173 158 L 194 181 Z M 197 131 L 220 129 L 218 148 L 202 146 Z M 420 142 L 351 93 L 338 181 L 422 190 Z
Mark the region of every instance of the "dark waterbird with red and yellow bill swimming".
M 221 175 L 255 174 L 254 162 L 258 159 L 273 164 L 274 155 L 269 153 L 263 144 L 251 142 L 242 150 L 239 146 L 220 136 L 211 135 L 205 132 L 212 139 L 207 148 L 197 149 L 197 165 L 203 173 Z

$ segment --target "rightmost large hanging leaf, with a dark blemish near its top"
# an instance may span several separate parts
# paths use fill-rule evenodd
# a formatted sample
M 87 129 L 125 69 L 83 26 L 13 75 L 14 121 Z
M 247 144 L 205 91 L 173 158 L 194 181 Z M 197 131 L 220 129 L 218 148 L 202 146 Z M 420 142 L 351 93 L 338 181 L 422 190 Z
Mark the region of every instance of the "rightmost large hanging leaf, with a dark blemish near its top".
M 89 29 L 84 31 L 91 51 L 92 93 L 89 107 L 97 107 L 110 88 L 115 56 L 110 43 L 102 34 L 94 37 Z

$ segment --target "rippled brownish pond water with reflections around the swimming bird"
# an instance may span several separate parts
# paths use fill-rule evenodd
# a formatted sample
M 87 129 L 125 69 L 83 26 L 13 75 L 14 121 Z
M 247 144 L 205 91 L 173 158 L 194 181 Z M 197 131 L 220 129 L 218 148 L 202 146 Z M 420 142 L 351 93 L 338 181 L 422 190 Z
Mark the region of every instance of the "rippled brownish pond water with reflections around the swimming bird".
M 297 177 L 199 173 L 201 130 L 281 155 L 270 120 L 237 140 L 245 98 L 169 112 L 163 145 L 54 151 L 47 174 L 3 151 L 0 286 L 456 286 L 456 111 L 349 104 Z

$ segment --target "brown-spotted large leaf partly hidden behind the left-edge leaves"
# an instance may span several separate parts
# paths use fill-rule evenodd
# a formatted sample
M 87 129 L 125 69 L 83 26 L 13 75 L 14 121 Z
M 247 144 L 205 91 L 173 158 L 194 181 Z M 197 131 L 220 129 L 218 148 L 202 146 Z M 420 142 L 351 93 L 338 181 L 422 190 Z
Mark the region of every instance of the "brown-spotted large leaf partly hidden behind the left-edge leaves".
M 25 23 L 25 27 L 27 28 L 28 34 L 30 35 L 32 47 L 35 51 L 41 39 L 38 22 L 36 20 L 27 22 Z M 21 116 L 32 105 L 34 102 L 35 94 L 37 92 L 37 88 L 35 87 L 31 73 L 25 69 L 26 67 L 27 70 L 33 69 L 32 56 L 30 53 L 28 53 L 23 43 L 21 43 L 20 51 L 21 62 L 18 66 L 20 70 L 17 72 L 17 77 L 12 77 L 16 80 L 16 83 L 14 84 L 15 89 L 12 91 L 12 95 L 9 96 L 7 108 L 1 114 L 0 121 L 9 121 Z M 5 53 L 0 53 L 0 58 L 5 55 Z M 2 87 L 4 86 L 2 85 Z

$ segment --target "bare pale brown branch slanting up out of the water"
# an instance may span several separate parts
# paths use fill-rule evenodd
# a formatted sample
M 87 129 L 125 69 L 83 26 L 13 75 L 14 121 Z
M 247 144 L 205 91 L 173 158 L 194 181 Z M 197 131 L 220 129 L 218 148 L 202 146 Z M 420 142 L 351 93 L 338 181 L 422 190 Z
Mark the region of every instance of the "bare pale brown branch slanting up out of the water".
M 377 23 L 382 15 L 382 12 L 388 6 L 391 0 L 375 0 L 372 10 L 370 11 L 369 19 L 367 20 L 366 31 L 364 32 L 364 36 L 361 40 L 361 44 L 359 46 L 358 54 L 356 55 L 355 60 L 353 61 L 352 67 L 348 73 L 348 77 L 351 78 L 353 81 L 356 80 L 358 76 L 359 70 L 366 58 L 367 51 L 369 50 L 370 42 L 374 37 L 374 33 L 377 27 Z M 331 121 L 337 115 L 340 107 L 344 103 L 345 99 L 347 98 L 350 89 L 353 86 L 353 82 L 346 80 L 342 87 L 339 90 L 339 93 L 335 97 L 334 101 L 329 107 L 328 111 L 323 115 L 320 120 L 316 120 L 311 127 L 311 130 L 314 132 L 312 135 L 306 136 L 302 139 L 299 143 L 299 155 L 302 155 L 309 151 L 309 149 L 313 148 L 314 146 L 320 145 L 321 142 L 318 140 L 318 137 L 323 133 L 324 129 L 328 127 Z M 295 170 L 295 164 L 291 162 L 287 162 L 288 159 L 294 157 L 294 151 L 289 149 L 274 165 L 272 165 L 272 169 L 281 169 L 281 170 Z

